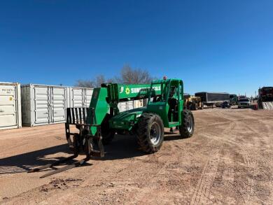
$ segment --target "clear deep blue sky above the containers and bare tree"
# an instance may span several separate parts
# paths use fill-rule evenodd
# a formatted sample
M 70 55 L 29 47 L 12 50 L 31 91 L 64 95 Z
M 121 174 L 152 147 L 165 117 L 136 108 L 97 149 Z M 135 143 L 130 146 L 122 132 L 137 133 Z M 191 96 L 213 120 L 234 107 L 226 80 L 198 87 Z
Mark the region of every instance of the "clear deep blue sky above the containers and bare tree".
M 273 86 L 273 1 L 1 1 L 0 81 L 74 85 L 124 64 L 185 91 Z

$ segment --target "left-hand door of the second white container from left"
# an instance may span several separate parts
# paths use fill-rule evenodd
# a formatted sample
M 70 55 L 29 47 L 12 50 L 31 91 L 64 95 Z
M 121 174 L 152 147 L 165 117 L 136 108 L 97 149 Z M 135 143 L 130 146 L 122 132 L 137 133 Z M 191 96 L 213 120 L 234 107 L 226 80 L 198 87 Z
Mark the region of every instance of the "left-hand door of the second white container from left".
M 50 93 L 48 87 L 34 87 L 35 123 L 50 122 Z

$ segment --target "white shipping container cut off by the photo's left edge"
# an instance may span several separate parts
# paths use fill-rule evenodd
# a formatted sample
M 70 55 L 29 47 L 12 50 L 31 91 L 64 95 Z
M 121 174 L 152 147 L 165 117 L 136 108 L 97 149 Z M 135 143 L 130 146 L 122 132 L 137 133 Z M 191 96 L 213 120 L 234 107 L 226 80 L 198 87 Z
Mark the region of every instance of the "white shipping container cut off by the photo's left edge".
M 20 83 L 0 83 L 0 129 L 22 127 Z

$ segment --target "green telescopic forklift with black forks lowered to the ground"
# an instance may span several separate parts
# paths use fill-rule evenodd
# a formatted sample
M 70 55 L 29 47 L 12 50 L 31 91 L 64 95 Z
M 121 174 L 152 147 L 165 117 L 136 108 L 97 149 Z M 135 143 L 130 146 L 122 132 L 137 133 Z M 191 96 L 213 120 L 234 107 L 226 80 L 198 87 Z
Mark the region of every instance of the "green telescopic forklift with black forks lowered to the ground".
M 120 112 L 118 103 L 148 99 L 146 107 Z M 107 83 L 94 88 L 89 108 L 67 108 L 66 139 L 73 155 L 29 172 L 40 171 L 62 164 L 85 152 L 85 159 L 56 169 L 41 177 L 50 176 L 72 167 L 80 166 L 90 157 L 104 157 L 104 145 L 111 143 L 115 134 L 137 137 L 141 150 L 156 153 L 164 141 L 164 128 L 176 127 L 183 138 L 193 135 L 193 113 L 183 109 L 183 81 L 179 79 L 153 80 L 150 84 Z M 75 125 L 78 133 L 70 132 Z

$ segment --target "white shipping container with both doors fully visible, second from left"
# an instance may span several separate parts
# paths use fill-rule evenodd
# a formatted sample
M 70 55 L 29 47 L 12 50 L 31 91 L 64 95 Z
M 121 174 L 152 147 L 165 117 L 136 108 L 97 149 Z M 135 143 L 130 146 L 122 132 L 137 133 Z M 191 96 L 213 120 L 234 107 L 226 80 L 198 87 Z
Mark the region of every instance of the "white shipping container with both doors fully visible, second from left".
M 21 94 L 22 125 L 32 127 L 65 122 L 68 87 L 29 84 L 21 87 Z

